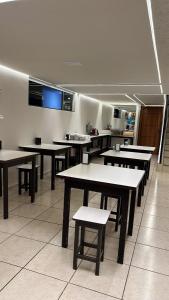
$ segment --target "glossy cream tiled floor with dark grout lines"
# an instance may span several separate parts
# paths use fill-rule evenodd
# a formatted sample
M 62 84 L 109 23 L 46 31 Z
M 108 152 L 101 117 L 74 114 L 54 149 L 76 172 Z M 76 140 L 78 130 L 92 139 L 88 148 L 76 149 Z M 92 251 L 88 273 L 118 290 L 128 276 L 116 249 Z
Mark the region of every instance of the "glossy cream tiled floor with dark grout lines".
M 97 163 L 102 163 L 98 159 Z M 74 222 L 70 219 L 69 247 L 61 248 L 64 183 L 40 182 L 35 204 L 11 188 L 10 217 L 0 219 L 0 300 L 168 300 L 169 299 L 169 173 L 157 171 L 155 159 L 141 208 L 136 208 L 133 236 L 127 236 L 124 264 L 117 264 L 119 232 L 109 223 L 105 260 L 100 276 L 94 264 L 79 261 L 72 268 Z M 83 194 L 73 190 L 71 216 Z M 100 195 L 90 193 L 90 206 Z M 115 200 L 109 201 L 116 205 Z M 2 203 L 0 202 L 0 215 Z M 89 241 L 95 240 L 87 232 Z

